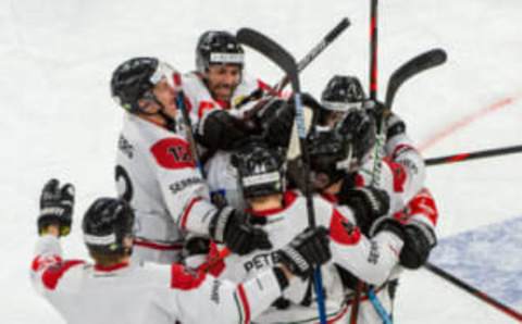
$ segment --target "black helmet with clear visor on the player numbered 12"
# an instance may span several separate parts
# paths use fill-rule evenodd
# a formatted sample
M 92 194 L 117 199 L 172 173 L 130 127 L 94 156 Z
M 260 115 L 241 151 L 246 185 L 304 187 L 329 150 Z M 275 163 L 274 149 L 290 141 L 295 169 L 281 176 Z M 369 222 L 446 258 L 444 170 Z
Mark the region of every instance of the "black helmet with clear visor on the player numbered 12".
M 111 95 L 114 100 L 130 113 L 140 111 L 138 100 L 150 97 L 152 89 L 163 77 L 173 88 L 181 83 L 178 72 L 157 58 L 133 58 L 120 64 L 112 73 Z

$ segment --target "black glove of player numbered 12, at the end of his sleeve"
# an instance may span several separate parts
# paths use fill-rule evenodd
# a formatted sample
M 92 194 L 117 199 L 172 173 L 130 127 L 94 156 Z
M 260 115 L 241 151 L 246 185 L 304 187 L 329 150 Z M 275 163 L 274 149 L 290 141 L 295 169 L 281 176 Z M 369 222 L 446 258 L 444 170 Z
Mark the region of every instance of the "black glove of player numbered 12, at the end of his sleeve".
M 245 256 L 253 250 L 272 248 L 266 233 L 248 223 L 248 214 L 231 207 L 220 209 L 210 223 L 210 236 L 224 242 L 234 253 Z

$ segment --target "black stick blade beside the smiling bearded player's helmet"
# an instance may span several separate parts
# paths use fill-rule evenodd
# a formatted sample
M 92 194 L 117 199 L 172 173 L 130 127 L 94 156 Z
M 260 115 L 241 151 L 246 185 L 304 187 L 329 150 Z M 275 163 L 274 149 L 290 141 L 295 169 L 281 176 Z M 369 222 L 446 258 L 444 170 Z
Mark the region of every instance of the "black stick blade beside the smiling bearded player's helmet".
M 238 42 L 251 47 L 270 59 L 288 75 L 293 87 L 299 89 L 296 59 L 287 50 L 263 34 L 250 28 L 239 29 L 236 34 L 236 39 Z

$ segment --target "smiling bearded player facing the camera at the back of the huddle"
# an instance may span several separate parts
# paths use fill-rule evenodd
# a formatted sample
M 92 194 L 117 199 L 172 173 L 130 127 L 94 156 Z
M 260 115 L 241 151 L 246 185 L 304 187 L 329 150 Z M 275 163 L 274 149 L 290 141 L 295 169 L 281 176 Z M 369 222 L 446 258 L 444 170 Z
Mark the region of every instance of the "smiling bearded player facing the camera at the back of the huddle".
M 229 149 L 247 133 L 236 103 L 254 91 L 270 90 L 244 72 L 245 51 L 224 30 L 204 32 L 196 47 L 196 71 L 184 75 L 197 138 L 209 150 Z

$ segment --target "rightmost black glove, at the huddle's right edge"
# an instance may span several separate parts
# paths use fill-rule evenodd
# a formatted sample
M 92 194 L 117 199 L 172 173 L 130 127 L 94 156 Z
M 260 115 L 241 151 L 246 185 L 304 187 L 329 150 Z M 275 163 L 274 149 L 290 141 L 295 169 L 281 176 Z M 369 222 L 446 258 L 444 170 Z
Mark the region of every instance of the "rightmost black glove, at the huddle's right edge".
M 408 269 L 419 269 L 427 261 L 430 252 L 437 245 L 437 237 L 430 226 L 421 222 L 405 225 L 405 245 L 400 251 L 400 264 Z

